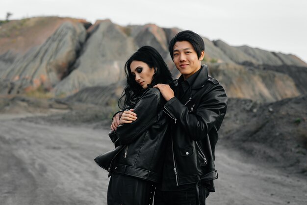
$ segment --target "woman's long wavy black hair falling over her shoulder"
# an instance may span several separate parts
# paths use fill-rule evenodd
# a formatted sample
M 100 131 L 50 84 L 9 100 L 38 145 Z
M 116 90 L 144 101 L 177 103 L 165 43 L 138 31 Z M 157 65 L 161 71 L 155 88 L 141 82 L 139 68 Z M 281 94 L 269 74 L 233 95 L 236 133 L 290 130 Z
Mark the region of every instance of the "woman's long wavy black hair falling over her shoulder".
M 133 53 L 125 64 L 127 86 L 118 101 L 118 106 L 123 110 L 133 108 L 146 90 L 135 81 L 135 77 L 131 74 L 130 64 L 134 60 L 142 61 L 150 68 L 155 69 L 152 84 L 148 85 L 148 88 L 151 88 L 158 83 L 169 84 L 171 88 L 174 87 L 171 72 L 162 56 L 153 47 L 143 46 Z

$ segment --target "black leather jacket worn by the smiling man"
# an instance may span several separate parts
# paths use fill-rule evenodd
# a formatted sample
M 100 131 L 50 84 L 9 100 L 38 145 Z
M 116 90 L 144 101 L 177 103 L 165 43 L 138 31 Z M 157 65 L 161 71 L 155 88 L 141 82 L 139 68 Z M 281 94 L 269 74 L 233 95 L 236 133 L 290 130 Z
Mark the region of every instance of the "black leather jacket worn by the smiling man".
M 208 76 L 206 65 L 180 99 L 174 97 L 165 103 L 163 111 L 173 119 L 170 125 L 177 185 L 202 181 L 211 185 L 209 191 L 214 191 L 214 151 L 226 109 L 225 90 Z

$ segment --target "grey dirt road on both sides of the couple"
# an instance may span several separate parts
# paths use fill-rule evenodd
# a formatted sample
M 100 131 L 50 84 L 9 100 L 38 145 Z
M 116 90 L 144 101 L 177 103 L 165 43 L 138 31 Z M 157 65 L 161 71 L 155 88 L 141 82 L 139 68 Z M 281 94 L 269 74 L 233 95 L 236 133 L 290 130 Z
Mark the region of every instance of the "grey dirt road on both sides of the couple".
M 0 205 L 106 205 L 108 130 L 34 124 L 0 116 Z M 265 161 L 265 160 L 264 160 Z M 219 179 L 209 205 L 305 205 L 307 179 L 216 149 Z

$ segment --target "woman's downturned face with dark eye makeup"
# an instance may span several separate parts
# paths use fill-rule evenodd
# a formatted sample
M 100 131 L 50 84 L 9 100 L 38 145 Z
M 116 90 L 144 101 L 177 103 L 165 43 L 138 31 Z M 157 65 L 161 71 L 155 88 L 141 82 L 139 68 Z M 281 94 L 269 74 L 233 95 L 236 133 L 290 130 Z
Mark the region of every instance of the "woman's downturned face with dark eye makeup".
M 133 60 L 130 64 L 130 70 L 135 81 L 139 83 L 143 89 L 148 88 L 148 84 L 152 83 L 154 69 L 150 68 L 143 61 Z

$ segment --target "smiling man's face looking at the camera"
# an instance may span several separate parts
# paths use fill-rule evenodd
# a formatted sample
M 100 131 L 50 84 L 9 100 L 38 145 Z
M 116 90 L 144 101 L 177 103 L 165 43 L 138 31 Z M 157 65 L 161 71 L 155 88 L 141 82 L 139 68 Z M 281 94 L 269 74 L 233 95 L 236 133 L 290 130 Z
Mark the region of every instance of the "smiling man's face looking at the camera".
M 192 44 L 188 41 L 177 41 L 173 48 L 173 61 L 184 79 L 189 78 L 201 68 L 205 52 L 198 59 Z

